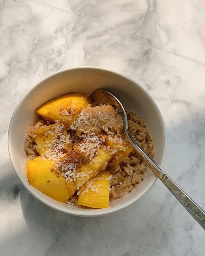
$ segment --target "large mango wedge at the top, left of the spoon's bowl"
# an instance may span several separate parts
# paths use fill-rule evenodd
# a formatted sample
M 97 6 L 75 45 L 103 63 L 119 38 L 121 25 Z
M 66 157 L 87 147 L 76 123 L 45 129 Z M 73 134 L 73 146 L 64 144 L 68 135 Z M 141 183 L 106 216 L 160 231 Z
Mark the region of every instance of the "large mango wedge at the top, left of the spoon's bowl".
M 59 120 L 67 127 L 73 125 L 78 114 L 91 103 L 91 99 L 82 93 L 72 92 L 49 100 L 36 108 L 36 113 L 55 122 Z

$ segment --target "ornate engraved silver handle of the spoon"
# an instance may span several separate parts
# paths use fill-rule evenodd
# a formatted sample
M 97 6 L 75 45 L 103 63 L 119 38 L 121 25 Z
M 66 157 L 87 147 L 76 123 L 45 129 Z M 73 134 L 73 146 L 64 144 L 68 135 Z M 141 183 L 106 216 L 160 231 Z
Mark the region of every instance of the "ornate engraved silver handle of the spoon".
M 185 209 L 192 215 L 192 217 L 205 230 L 205 211 L 198 206 L 176 183 L 159 167 L 156 162 L 150 158 L 148 154 L 138 145 L 133 139 L 130 132 L 126 129 L 126 136 L 132 142 L 133 148 L 137 151 L 140 157 L 146 162 L 154 174 L 165 184 L 165 186 L 172 192 L 176 199 L 185 207 Z

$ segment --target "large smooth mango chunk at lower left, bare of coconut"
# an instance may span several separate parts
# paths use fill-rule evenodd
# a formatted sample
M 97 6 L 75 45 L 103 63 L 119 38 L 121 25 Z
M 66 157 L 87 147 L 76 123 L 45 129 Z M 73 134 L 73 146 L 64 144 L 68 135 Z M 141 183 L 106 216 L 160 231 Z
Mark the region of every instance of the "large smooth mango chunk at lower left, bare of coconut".
M 42 157 L 37 157 L 28 161 L 27 164 L 28 182 L 43 194 L 66 203 L 68 199 L 67 182 L 61 174 L 56 174 L 53 171 L 51 160 L 44 160 Z

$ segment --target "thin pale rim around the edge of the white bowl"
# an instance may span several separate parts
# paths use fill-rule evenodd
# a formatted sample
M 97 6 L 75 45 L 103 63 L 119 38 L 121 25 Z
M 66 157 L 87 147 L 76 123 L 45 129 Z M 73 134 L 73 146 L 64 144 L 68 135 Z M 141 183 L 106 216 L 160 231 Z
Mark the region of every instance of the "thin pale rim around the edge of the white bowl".
M 58 210 L 59 212 L 70 214 L 70 215 L 73 215 L 73 216 L 78 216 L 78 217 L 97 217 L 97 216 L 107 215 L 109 213 L 114 213 L 114 212 L 116 212 L 118 210 L 121 210 L 121 209 L 124 209 L 124 208 L 130 206 L 132 203 L 136 202 L 137 200 L 139 200 L 141 197 L 143 197 L 143 195 L 145 195 L 150 190 L 150 188 L 153 186 L 153 184 L 155 184 L 155 182 L 157 180 L 157 177 L 155 177 L 153 179 L 153 181 L 149 184 L 148 187 L 146 187 L 146 189 L 143 191 L 143 193 L 140 194 L 140 196 L 134 197 L 128 203 L 124 203 L 123 205 L 117 206 L 114 209 L 111 209 L 109 207 L 108 208 L 104 208 L 104 209 L 102 209 L 101 212 L 92 213 L 92 212 L 88 211 L 87 213 L 86 212 L 82 213 L 80 211 L 79 212 L 76 211 L 75 208 L 73 208 L 73 209 L 72 208 L 65 209 L 63 207 L 56 206 L 55 203 L 48 202 L 46 199 L 41 198 L 38 194 L 36 194 L 34 191 L 32 191 L 30 189 L 29 184 L 26 184 L 25 181 L 23 180 L 23 178 L 19 175 L 20 174 L 20 170 L 19 170 L 19 168 L 17 168 L 15 166 L 14 154 L 12 152 L 12 145 L 11 145 L 11 135 L 12 135 L 12 128 L 13 128 L 14 117 L 16 116 L 16 113 L 18 112 L 18 109 L 23 104 L 24 99 L 27 98 L 29 96 L 29 94 L 31 94 L 33 92 L 33 90 L 36 89 L 36 87 L 38 87 L 40 84 L 45 82 L 47 79 L 50 79 L 50 78 L 52 78 L 52 77 L 54 77 L 54 76 L 56 76 L 56 75 L 58 75 L 60 73 L 68 72 L 68 71 L 71 71 L 71 70 L 77 70 L 77 69 L 96 69 L 96 70 L 101 70 L 101 71 L 105 71 L 105 72 L 111 72 L 114 75 L 121 76 L 122 78 L 127 79 L 130 82 L 133 82 L 133 84 L 135 86 L 140 87 L 140 89 L 146 94 L 146 96 L 148 96 L 148 98 L 150 98 L 151 102 L 153 103 L 153 105 L 155 106 L 155 108 L 156 108 L 156 110 L 157 110 L 157 112 L 159 114 L 160 121 L 161 121 L 161 124 L 162 124 L 162 127 L 163 127 L 163 132 L 164 132 L 164 151 L 163 151 L 162 163 L 160 165 L 161 167 L 163 167 L 163 165 L 164 165 L 164 162 L 165 162 L 165 159 L 166 159 L 166 151 L 167 151 L 166 126 L 165 126 L 165 122 L 164 122 L 164 119 L 163 119 L 163 115 L 160 112 L 158 105 L 156 104 L 156 102 L 154 101 L 152 96 L 146 91 L 146 89 L 144 89 L 138 82 L 134 81 L 133 79 L 127 78 L 126 76 L 124 76 L 124 75 L 122 75 L 122 74 L 120 74 L 118 72 L 112 71 L 110 69 L 104 69 L 104 68 L 95 67 L 95 66 L 78 66 L 78 67 L 75 67 L 75 68 L 63 69 L 63 70 L 60 70 L 58 72 L 52 73 L 51 75 L 46 76 L 45 78 L 43 78 L 39 82 L 37 82 L 35 85 L 33 85 L 32 88 L 28 90 L 26 95 L 24 95 L 23 98 L 20 99 L 20 101 L 18 102 L 18 104 L 15 107 L 15 110 L 14 110 L 14 112 L 12 114 L 12 117 L 11 117 L 11 120 L 10 120 L 10 125 L 9 125 L 9 129 L 8 129 L 8 151 L 9 151 L 10 161 L 11 161 L 11 164 L 13 166 L 13 169 L 16 172 L 16 175 L 20 179 L 21 183 L 26 188 L 26 190 L 30 194 L 33 195 L 33 197 L 35 197 L 38 201 L 40 201 L 41 203 L 45 204 L 46 206 L 52 208 L 53 210 Z

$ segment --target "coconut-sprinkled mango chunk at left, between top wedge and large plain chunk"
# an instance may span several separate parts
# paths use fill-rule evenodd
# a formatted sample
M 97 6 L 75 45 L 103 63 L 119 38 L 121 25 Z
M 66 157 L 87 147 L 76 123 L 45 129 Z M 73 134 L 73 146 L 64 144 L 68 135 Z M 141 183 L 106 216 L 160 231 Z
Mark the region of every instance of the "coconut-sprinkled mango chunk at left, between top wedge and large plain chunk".
M 72 147 L 66 127 L 63 124 L 42 126 L 33 132 L 33 139 L 38 145 L 39 155 L 46 158 L 49 158 L 51 154 L 55 154 L 55 151 L 59 152 L 59 145 L 62 148 L 61 152 Z

